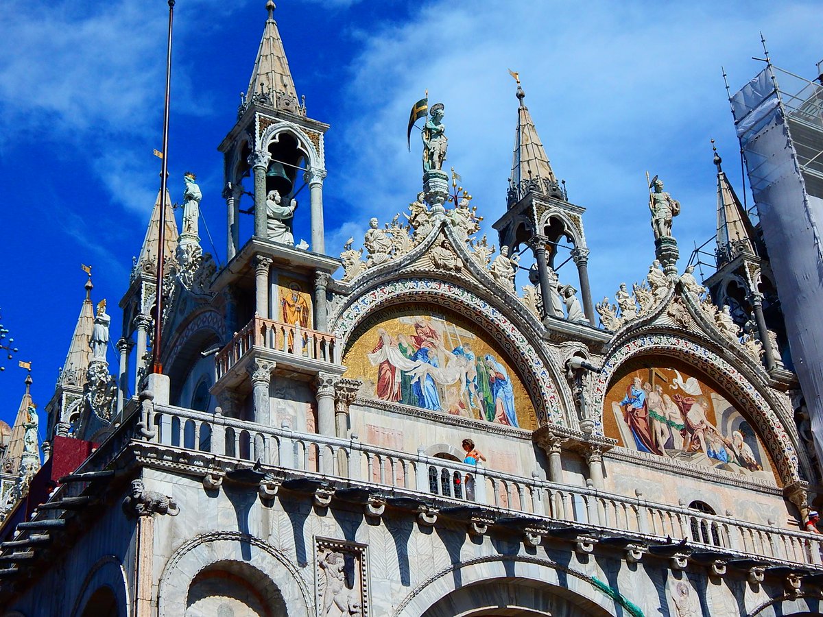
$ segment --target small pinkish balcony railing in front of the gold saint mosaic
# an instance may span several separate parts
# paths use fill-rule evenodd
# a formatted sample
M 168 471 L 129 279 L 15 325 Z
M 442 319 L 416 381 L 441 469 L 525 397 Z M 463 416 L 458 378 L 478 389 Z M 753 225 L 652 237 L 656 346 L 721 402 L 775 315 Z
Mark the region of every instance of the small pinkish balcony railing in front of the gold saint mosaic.
M 332 364 L 337 360 L 336 342 L 328 332 L 255 316 L 216 355 L 216 377 L 228 373 L 252 347 Z

